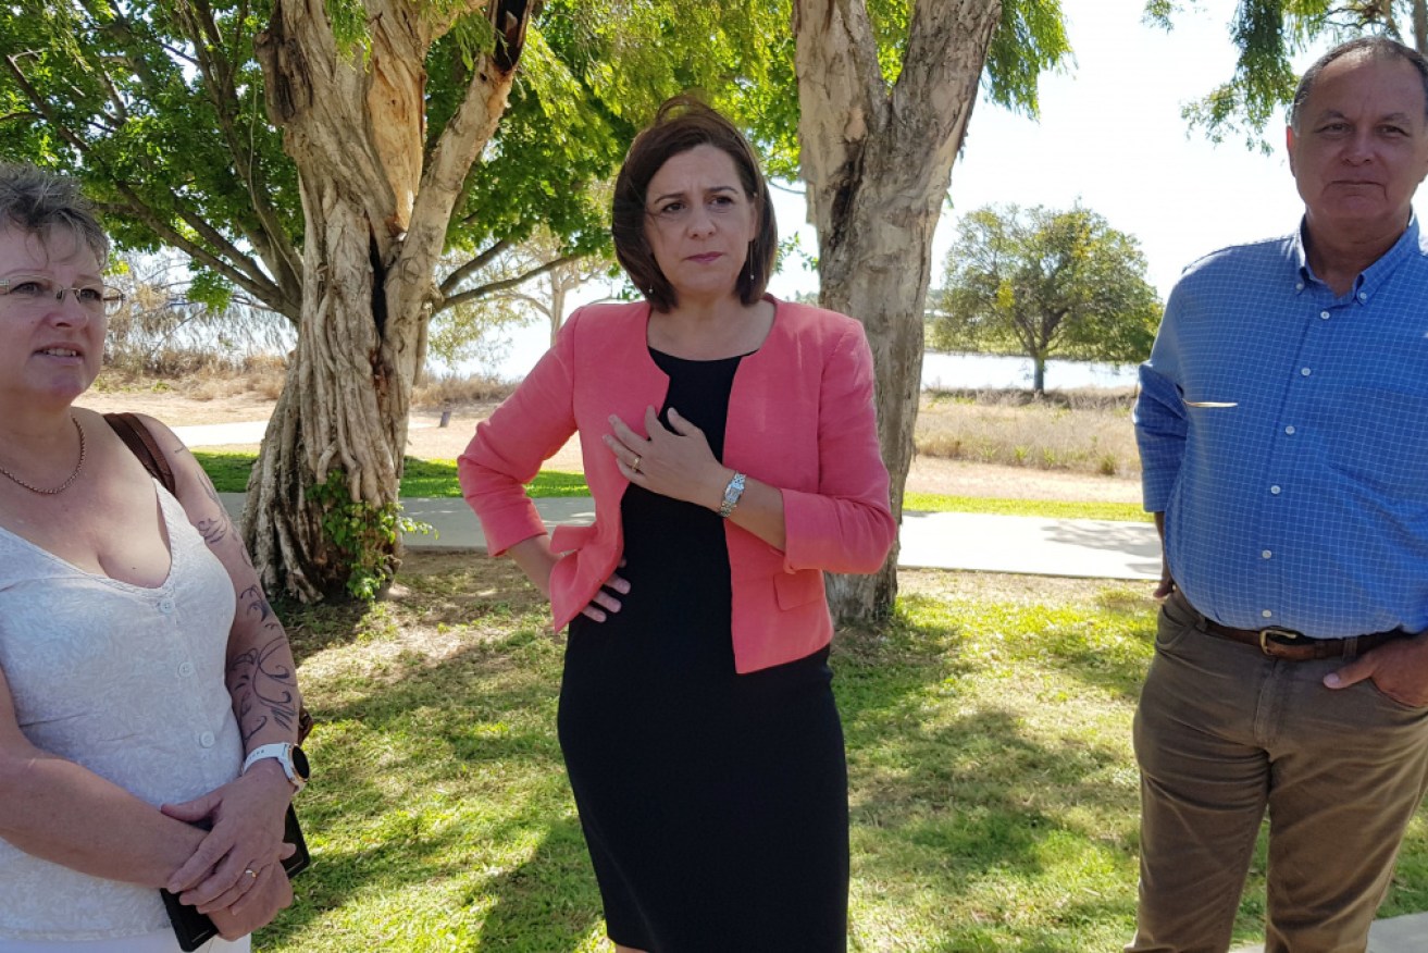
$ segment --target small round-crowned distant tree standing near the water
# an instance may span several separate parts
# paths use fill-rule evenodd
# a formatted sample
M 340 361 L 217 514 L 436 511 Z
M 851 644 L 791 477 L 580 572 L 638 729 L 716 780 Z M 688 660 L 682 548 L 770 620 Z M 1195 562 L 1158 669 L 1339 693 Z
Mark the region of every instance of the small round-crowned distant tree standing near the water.
M 1140 244 L 1081 207 L 968 213 L 934 300 L 934 347 L 1024 354 L 1037 394 L 1045 393 L 1047 359 L 1142 360 L 1160 320 Z

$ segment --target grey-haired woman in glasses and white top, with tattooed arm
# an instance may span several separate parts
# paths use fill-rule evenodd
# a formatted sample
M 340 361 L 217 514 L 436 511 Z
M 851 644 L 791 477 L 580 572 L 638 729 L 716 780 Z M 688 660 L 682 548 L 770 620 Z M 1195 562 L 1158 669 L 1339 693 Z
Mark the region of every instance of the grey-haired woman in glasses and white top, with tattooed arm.
M 107 250 L 73 181 L 0 164 L 0 952 L 177 950 L 160 887 L 247 949 L 293 896 L 293 657 L 178 439 L 144 420 L 173 496 L 74 406 Z

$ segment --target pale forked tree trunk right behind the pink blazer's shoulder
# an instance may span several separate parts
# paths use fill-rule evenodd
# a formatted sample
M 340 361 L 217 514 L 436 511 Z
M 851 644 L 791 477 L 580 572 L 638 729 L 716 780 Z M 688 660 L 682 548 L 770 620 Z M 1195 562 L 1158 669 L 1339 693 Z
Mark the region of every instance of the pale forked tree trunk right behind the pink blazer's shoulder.
M 901 74 L 888 86 L 865 0 L 794 3 L 798 136 L 818 230 L 820 303 L 868 330 L 898 522 L 921 391 L 932 231 L 1000 20 L 1000 0 L 917 0 Z M 897 556 L 894 546 L 873 576 L 830 579 L 840 622 L 891 612 Z

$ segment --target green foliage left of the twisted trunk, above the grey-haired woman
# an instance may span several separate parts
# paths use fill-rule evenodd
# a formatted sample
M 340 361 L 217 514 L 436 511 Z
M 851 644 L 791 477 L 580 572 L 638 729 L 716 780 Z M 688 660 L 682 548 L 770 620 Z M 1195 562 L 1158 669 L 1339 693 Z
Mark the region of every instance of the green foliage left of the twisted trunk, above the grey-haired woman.
M 268 4 L 203 4 L 207 31 L 198 9 L 157 0 L 0 7 L 9 54 L 0 157 L 79 176 L 120 247 L 183 241 L 191 256 L 224 263 L 228 280 L 257 279 L 226 246 L 263 234 L 258 209 L 273 211 L 287 240 L 303 227 L 297 179 L 264 116 L 253 59 Z

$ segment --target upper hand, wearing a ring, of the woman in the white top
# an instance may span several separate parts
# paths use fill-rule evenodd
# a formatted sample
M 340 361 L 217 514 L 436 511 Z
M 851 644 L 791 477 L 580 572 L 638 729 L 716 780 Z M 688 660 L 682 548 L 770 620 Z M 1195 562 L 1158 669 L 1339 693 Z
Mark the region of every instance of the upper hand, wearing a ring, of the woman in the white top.
M 283 843 L 283 819 L 293 786 L 273 759 L 264 759 L 201 797 L 164 804 L 163 812 L 190 824 L 208 822 L 211 829 L 194 854 L 166 884 L 200 913 L 230 907 L 251 890 L 247 870 L 260 872 L 291 856 Z

